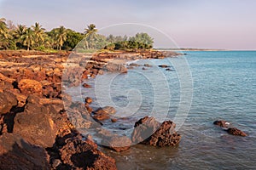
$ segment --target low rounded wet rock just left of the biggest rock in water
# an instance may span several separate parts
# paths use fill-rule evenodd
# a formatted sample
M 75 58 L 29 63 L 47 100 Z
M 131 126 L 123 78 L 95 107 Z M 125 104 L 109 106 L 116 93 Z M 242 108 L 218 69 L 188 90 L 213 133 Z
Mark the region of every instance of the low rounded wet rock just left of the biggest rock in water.
M 131 139 L 126 136 L 106 137 L 102 139 L 102 144 L 111 150 L 121 152 L 130 149 Z

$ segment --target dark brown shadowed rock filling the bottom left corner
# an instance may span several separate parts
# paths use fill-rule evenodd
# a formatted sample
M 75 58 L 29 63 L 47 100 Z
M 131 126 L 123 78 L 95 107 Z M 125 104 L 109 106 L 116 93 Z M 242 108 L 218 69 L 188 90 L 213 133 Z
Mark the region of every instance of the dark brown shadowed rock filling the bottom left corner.
M 44 148 L 6 133 L 0 136 L 0 169 L 49 169 L 48 156 Z

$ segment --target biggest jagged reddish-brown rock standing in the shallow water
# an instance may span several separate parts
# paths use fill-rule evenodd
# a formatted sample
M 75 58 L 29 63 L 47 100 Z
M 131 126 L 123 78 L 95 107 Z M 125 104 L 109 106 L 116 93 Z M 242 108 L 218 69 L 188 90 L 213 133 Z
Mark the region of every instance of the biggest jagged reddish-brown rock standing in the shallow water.
M 154 117 L 146 116 L 136 122 L 134 127 L 131 135 L 133 142 L 163 147 L 176 145 L 181 139 L 175 131 L 175 123 L 171 121 L 160 123 Z

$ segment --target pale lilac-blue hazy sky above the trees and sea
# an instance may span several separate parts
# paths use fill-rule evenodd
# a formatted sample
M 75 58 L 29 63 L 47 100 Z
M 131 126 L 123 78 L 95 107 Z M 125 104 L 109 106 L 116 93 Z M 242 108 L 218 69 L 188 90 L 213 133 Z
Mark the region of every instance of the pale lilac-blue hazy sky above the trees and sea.
M 136 26 L 120 24 L 136 23 L 138 31 L 151 30 L 159 47 L 255 50 L 255 8 L 255 0 L 0 0 L 0 17 L 15 25 L 39 22 L 46 30 L 65 26 L 82 32 L 93 23 L 124 34 Z

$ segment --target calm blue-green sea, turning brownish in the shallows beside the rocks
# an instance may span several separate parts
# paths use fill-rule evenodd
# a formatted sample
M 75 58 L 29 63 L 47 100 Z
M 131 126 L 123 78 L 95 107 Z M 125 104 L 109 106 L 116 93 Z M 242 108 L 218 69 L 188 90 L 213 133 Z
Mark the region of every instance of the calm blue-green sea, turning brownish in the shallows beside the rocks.
M 95 100 L 92 107 L 116 108 L 119 121 L 103 122 L 108 131 L 129 136 L 134 123 L 148 115 L 174 121 L 182 135 L 174 147 L 134 144 L 121 153 L 102 150 L 119 169 L 255 169 L 256 52 L 185 53 L 138 60 L 142 66 L 127 74 L 106 73 L 87 81 L 95 88 L 81 88 L 83 98 Z M 170 65 L 171 71 L 158 65 Z M 248 136 L 226 133 L 213 125 L 218 119 Z

